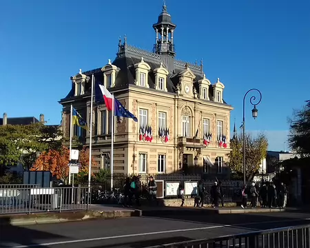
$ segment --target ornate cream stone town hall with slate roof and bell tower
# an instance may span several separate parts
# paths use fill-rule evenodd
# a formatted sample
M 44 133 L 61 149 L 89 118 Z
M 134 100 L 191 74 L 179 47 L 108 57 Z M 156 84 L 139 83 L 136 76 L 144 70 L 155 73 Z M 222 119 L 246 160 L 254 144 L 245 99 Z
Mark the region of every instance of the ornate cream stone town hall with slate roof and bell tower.
M 211 83 L 200 64 L 176 60 L 176 25 L 164 5 L 153 25 L 154 47 L 149 52 L 119 39 L 113 62 L 71 77 L 72 90 L 63 105 L 63 130 L 70 134 L 70 104 L 90 123 L 93 114 L 93 154 L 99 169 L 110 167 L 111 113 L 105 105 L 90 110 L 91 77 L 114 93 L 138 118 L 115 123 L 114 172 L 156 174 L 204 172 L 227 175 L 231 105 L 224 101 L 225 85 Z M 90 125 L 90 124 L 89 124 Z M 197 135 L 196 135 L 197 134 Z M 74 127 L 84 144 L 90 132 Z

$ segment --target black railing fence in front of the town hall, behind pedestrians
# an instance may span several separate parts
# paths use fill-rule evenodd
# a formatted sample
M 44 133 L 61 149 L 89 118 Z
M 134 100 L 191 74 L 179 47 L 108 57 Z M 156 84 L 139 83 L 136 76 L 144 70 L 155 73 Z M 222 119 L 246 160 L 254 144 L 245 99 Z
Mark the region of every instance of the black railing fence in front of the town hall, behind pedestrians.
M 107 175 L 105 178 L 101 178 L 101 182 L 93 182 L 92 190 L 93 192 L 110 192 L 111 191 L 111 178 L 113 178 L 113 188 L 114 192 L 122 192 L 123 185 L 125 184 L 126 178 L 132 178 L 133 174 L 113 174 Z M 200 174 L 140 174 L 140 180 L 143 187 L 146 188 L 147 183 L 149 182 L 149 176 L 153 176 L 155 180 L 164 180 L 164 182 L 178 182 L 180 183 L 179 189 L 184 189 L 184 183 L 189 181 L 196 181 L 202 179 Z M 211 186 L 214 185 L 214 180 L 204 180 L 205 189 L 207 192 L 210 192 Z M 220 181 L 223 194 L 224 201 L 228 202 L 236 202 L 239 198 L 240 189 L 243 185 L 243 182 L 240 180 L 221 180 Z M 250 184 L 250 183 L 249 183 Z M 87 183 L 82 184 L 83 186 L 87 186 Z M 164 183 L 165 187 L 165 183 Z M 175 198 L 171 196 L 165 196 L 165 198 Z

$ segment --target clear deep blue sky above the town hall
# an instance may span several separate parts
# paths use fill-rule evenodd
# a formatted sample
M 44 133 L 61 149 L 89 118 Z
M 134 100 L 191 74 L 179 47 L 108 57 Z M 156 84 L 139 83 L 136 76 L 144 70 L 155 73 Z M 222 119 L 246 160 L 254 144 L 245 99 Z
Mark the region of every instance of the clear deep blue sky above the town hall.
M 177 25 L 177 58 L 203 58 L 212 83 L 225 84 L 234 106 L 231 129 L 242 121 L 242 99 L 262 92 L 258 118 L 246 102 L 247 130 L 268 131 L 269 149 L 283 149 L 293 109 L 309 99 L 310 1 L 167 0 Z M 116 56 L 118 37 L 152 50 L 163 1 L 3 0 L 0 3 L 0 112 L 45 114 L 61 121 L 57 101 L 68 94 L 70 76 L 99 68 Z M 249 95 L 250 97 L 251 95 Z M 284 136 L 283 136 L 284 135 Z M 272 145 L 271 145 L 272 144 Z

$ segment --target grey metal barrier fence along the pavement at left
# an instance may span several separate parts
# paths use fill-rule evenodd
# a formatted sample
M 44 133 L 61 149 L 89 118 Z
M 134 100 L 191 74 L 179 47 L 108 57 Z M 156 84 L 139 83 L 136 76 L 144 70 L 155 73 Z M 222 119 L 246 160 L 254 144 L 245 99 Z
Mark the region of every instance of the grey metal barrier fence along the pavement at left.
M 87 196 L 88 187 L 0 188 L 0 214 L 88 209 Z

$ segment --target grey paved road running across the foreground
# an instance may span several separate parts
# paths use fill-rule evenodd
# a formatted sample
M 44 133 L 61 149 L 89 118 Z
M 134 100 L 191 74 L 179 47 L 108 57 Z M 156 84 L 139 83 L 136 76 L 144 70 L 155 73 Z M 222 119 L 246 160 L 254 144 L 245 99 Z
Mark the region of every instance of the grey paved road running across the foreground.
M 90 220 L 1 227 L 0 247 L 143 248 L 169 242 L 310 223 L 310 214 L 223 214 Z

